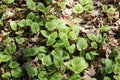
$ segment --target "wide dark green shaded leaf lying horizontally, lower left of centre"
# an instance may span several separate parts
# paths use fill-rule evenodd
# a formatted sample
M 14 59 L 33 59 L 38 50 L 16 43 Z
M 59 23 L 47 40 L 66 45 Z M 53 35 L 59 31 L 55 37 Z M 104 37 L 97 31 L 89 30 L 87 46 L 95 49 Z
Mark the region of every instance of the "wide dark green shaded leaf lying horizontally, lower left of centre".
M 25 57 L 35 56 L 38 52 L 39 49 L 35 47 L 22 49 L 22 53 Z

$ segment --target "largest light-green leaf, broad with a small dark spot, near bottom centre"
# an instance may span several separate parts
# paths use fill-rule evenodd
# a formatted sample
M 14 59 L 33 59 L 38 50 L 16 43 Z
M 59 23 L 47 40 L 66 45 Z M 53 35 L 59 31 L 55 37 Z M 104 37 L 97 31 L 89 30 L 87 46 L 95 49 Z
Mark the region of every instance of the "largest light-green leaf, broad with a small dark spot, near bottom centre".
M 68 62 L 67 67 L 74 73 L 79 74 L 88 67 L 88 63 L 83 57 L 75 57 Z

